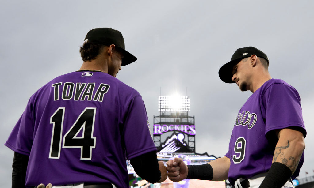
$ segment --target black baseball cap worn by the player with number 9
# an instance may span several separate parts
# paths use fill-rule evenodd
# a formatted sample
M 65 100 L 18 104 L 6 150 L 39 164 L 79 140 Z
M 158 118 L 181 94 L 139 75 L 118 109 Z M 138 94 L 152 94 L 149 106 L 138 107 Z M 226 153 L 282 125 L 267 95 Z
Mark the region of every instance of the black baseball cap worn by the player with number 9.
M 231 60 L 228 63 L 226 63 L 225 65 L 223 65 L 222 67 L 220 67 L 220 69 L 218 71 L 220 79 L 226 83 L 230 83 L 230 84 L 236 83 L 236 82 L 232 81 L 233 66 L 236 65 L 237 63 L 239 63 L 242 59 L 247 58 L 247 57 L 251 57 L 251 55 L 256 55 L 257 57 L 264 58 L 269 63 L 267 55 L 264 54 L 264 52 L 262 52 L 261 50 L 258 50 L 257 48 L 254 48 L 252 46 L 239 48 L 232 55 Z

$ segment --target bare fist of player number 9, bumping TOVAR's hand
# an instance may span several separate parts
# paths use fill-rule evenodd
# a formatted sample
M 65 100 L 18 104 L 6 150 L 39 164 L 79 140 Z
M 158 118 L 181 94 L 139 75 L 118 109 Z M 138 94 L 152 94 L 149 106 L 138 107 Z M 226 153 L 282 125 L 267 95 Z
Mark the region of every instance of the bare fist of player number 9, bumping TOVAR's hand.
M 187 178 L 188 168 L 181 158 L 174 158 L 167 163 L 168 177 L 171 181 L 181 181 Z

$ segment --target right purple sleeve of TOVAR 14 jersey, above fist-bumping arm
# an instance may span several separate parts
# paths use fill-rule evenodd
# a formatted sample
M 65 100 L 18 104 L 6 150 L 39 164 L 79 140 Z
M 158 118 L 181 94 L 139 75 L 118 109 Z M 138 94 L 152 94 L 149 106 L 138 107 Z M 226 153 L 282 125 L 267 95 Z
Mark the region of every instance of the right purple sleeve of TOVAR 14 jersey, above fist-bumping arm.
M 134 97 L 129 103 L 122 136 L 129 160 L 147 152 L 157 151 L 150 135 L 148 117 L 141 96 Z

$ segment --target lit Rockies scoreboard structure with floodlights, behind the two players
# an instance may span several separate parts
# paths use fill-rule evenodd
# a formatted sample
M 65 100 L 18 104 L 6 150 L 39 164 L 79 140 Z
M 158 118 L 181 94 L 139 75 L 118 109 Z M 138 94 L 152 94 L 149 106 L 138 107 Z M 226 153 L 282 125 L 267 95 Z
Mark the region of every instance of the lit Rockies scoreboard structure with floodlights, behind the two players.
M 201 165 L 217 159 L 214 155 L 196 153 L 195 117 L 189 116 L 190 98 L 188 96 L 159 96 L 158 111 L 151 126 L 153 140 L 157 148 L 157 158 L 166 162 L 175 157 L 183 159 L 187 165 Z M 167 179 L 162 183 L 150 184 L 136 175 L 132 165 L 127 161 L 130 188 L 226 188 L 226 182 L 185 179 L 172 182 Z

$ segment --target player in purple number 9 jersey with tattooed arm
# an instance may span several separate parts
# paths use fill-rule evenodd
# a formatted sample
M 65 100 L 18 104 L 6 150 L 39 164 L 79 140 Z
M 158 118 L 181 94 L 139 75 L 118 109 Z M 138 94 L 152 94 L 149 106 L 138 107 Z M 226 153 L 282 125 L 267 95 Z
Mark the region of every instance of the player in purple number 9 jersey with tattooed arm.
M 252 95 L 241 107 L 224 157 L 204 165 L 167 162 L 170 180 L 185 178 L 228 180 L 236 188 L 294 187 L 303 164 L 306 130 L 298 91 L 285 81 L 272 79 L 268 57 L 254 47 L 236 50 L 219 69 L 226 83 L 236 83 Z

